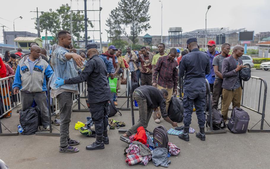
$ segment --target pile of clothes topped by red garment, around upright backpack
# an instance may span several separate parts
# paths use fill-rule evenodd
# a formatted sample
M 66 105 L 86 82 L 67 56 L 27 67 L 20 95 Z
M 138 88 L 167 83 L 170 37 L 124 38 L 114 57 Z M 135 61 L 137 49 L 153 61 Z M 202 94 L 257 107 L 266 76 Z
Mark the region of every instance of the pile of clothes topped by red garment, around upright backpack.
M 169 167 L 171 161 L 168 160 L 168 157 L 176 156 L 180 152 L 180 148 L 172 143 L 168 143 L 168 148 L 156 148 L 153 137 L 150 137 L 142 126 L 137 129 L 135 135 L 129 137 L 129 140 L 131 144 L 124 149 L 128 165 L 147 165 L 152 159 L 155 166 Z

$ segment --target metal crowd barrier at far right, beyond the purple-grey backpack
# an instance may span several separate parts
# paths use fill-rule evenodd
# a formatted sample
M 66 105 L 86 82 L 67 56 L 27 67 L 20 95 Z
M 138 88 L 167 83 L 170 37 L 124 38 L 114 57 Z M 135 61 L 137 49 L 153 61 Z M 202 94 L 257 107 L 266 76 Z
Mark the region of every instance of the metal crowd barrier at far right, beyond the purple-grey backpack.
M 258 87 L 260 90 L 258 91 Z M 263 129 L 263 124 L 265 120 L 265 107 L 266 107 L 266 95 L 267 95 L 267 84 L 264 79 L 260 77 L 251 76 L 250 80 L 247 82 L 243 81 L 242 90 L 242 102 L 241 106 L 256 112 L 261 115 L 261 120 L 258 121 L 254 126 L 248 129 L 248 132 L 270 132 L 270 130 Z M 259 122 L 261 122 L 260 129 L 253 129 Z M 266 122 L 270 127 L 270 125 Z

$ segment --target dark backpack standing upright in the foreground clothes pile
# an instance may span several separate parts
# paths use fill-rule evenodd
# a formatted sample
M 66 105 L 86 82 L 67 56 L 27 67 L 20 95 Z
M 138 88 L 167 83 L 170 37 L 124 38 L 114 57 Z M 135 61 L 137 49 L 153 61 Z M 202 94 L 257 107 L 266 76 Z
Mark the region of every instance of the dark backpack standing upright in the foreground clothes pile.
M 167 129 L 164 126 L 158 126 L 153 133 L 154 145 L 156 148 L 168 148 L 169 138 Z

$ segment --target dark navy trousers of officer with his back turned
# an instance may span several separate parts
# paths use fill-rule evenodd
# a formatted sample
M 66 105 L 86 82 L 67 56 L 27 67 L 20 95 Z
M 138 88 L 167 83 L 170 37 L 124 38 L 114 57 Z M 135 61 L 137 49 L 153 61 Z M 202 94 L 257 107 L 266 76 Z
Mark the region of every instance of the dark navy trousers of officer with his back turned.
M 184 125 L 189 127 L 191 124 L 191 115 L 193 112 L 193 104 L 196 109 L 196 115 L 198 118 L 198 124 L 200 127 L 204 127 L 205 124 L 205 90 L 184 90 L 183 107 L 184 107 Z

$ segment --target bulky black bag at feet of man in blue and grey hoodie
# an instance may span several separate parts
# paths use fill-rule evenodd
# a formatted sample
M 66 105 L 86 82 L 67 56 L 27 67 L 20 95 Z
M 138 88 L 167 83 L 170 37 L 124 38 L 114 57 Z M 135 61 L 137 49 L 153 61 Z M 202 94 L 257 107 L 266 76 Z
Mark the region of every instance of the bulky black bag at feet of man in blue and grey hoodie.
M 35 134 L 39 128 L 39 118 L 36 107 L 29 107 L 25 111 L 20 110 L 20 124 L 23 127 L 22 134 Z

